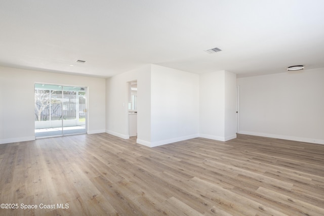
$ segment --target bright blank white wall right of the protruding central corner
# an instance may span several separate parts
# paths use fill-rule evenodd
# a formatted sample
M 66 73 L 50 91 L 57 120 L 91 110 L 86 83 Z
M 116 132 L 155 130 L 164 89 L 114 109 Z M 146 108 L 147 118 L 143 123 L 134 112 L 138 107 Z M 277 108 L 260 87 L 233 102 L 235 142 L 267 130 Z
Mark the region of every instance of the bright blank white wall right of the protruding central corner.
M 151 65 L 151 144 L 198 137 L 199 76 Z

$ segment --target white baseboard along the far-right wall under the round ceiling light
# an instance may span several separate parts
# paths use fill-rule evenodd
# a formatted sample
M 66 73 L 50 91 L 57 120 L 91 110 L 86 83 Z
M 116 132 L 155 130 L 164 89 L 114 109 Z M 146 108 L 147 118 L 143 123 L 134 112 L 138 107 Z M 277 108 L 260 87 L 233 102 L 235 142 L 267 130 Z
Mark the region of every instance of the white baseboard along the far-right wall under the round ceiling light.
M 293 140 L 293 141 L 299 141 L 299 142 L 305 142 L 305 143 L 324 144 L 324 140 L 303 138 L 303 137 L 293 137 L 293 136 L 266 134 L 266 133 L 249 132 L 249 131 L 239 131 L 238 134 L 245 134 L 245 135 L 252 135 L 252 136 L 259 136 L 259 137 L 269 137 L 269 138 L 276 138 L 276 139 L 282 139 L 282 140 Z

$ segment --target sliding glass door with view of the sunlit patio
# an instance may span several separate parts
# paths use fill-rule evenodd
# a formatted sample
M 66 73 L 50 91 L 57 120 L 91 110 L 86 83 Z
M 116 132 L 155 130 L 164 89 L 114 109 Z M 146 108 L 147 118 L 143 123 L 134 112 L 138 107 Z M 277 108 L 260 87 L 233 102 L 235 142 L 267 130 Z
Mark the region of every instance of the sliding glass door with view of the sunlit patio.
M 35 137 L 87 132 L 87 88 L 35 84 Z

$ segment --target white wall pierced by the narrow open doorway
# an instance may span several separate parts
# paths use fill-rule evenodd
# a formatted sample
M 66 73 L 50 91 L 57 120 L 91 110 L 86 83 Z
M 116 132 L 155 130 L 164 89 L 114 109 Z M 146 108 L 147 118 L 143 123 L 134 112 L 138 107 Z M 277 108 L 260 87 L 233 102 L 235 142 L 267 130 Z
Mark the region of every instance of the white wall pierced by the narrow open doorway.
M 128 82 L 137 80 L 137 139 L 150 143 L 150 71 L 147 65 L 106 79 L 106 132 L 124 139 L 128 131 Z

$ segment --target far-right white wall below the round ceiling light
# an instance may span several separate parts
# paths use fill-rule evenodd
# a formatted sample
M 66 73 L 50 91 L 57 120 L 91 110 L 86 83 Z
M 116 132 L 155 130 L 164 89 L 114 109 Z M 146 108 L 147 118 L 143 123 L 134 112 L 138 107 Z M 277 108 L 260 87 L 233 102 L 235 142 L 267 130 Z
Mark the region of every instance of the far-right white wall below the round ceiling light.
M 239 133 L 324 144 L 324 68 L 238 78 Z

